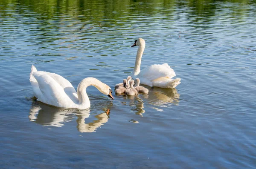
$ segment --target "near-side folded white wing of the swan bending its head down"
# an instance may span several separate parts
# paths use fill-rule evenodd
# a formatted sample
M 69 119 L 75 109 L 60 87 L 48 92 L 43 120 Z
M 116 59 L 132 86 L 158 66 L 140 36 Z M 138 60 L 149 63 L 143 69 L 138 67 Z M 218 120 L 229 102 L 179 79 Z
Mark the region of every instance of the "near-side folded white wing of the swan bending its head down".
M 34 72 L 32 75 L 37 80 L 41 91 L 41 95 L 36 96 L 38 101 L 58 107 L 73 104 L 73 101 L 66 94 L 64 88 L 49 75 L 49 72 L 38 71 Z

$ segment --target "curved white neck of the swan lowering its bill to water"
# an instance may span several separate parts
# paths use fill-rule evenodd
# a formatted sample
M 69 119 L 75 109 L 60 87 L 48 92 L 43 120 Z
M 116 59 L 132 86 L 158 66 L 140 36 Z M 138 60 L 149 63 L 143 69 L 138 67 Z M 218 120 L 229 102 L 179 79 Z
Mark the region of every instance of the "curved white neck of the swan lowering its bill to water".
M 88 86 L 94 86 L 99 91 L 102 91 L 101 88 L 102 88 L 103 84 L 104 83 L 102 83 L 101 81 L 99 81 L 93 77 L 87 77 L 87 78 L 83 79 L 77 87 L 77 97 L 79 99 L 79 105 L 81 105 L 81 106 L 86 105 L 86 106 L 90 107 L 90 100 L 86 93 L 86 88 Z

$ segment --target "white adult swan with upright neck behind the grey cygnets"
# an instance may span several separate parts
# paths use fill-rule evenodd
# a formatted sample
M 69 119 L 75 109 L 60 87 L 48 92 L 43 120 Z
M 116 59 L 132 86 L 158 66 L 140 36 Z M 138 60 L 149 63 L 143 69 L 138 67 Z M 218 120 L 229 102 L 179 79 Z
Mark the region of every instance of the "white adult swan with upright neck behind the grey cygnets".
M 132 78 L 140 78 L 140 83 L 148 86 L 157 86 L 161 88 L 173 89 L 180 84 L 180 78 L 172 79 L 176 74 L 167 64 L 151 65 L 140 71 L 141 57 L 145 49 L 145 40 L 139 38 L 134 41 L 133 46 L 139 46 L 135 61 Z

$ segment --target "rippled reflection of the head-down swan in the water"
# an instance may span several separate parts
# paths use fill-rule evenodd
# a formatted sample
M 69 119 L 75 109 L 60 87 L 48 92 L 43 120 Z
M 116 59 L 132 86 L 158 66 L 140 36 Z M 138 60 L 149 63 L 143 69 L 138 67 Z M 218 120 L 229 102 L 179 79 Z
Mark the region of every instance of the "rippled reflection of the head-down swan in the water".
M 85 119 L 90 116 L 90 112 L 90 109 L 64 109 L 33 102 L 29 112 L 29 120 L 43 126 L 61 127 L 77 116 L 76 122 L 79 132 L 96 132 L 97 128 L 108 122 L 110 109 L 104 108 L 102 113 L 94 116 L 97 120 L 85 123 Z

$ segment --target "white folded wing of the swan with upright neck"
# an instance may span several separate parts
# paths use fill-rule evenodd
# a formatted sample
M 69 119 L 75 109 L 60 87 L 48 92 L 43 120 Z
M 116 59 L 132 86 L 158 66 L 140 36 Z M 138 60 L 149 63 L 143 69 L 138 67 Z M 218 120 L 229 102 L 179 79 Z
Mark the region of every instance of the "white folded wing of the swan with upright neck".
M 161 77 L 167 77 L 167 78 L 172 78 L 175 77 L 176 74 L 174 70 L 167 64 L 164 63 L 162 65 L 151 65 L 148 67 L 145 67 L 141 72 L 140 72 L 140 77 L 141 78 L 146 78 L 150 81 L 157 80 Z

